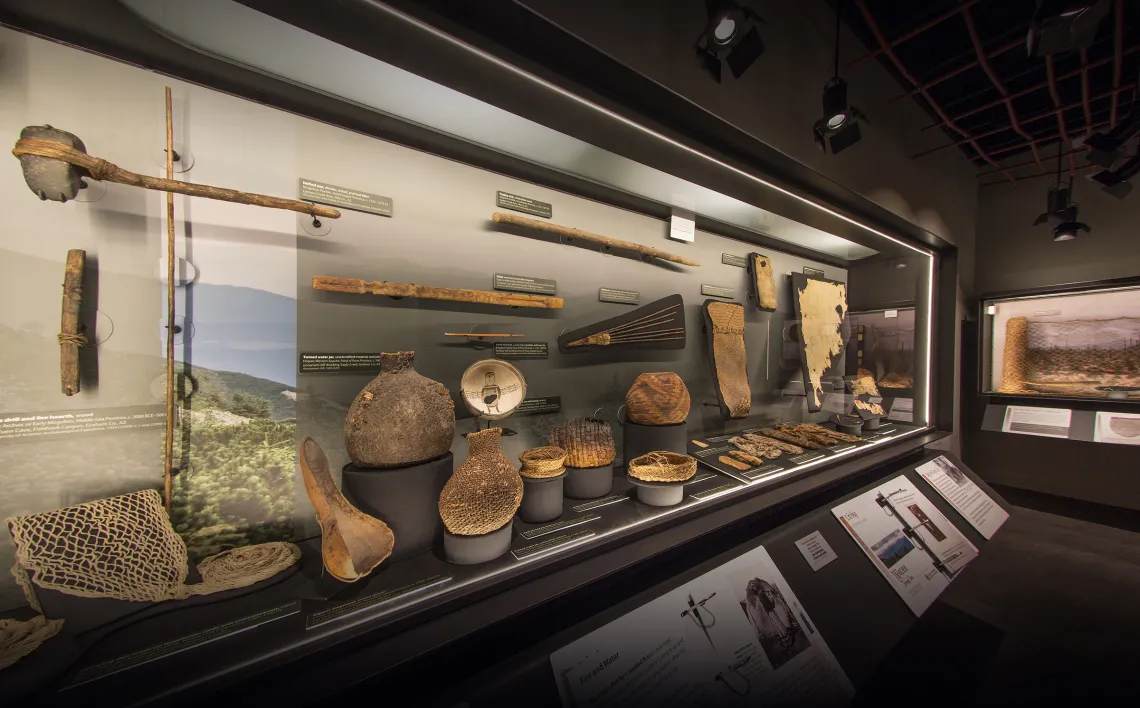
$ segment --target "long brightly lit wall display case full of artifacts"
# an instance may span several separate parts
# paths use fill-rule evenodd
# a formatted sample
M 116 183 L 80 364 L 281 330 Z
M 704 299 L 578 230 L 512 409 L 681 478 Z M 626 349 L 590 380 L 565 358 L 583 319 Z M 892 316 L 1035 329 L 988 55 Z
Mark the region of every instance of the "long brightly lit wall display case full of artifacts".
M 30 302 L 0 323 L 0 561 L 23 573 L 0 607 L 64 620 L 17 689 L 114 685 L 238 635 L 243 670 L 280 666 L 683 545 L 951 429 L 954 250 L 881 209 L 396 10 L 385 32 L 472 73 L 234 2 L 116 7 L 179 80 L 0 31 L 22 97 L 2 268 Z M 849 272 L 899 259 L 880 277 L 913 304 L 849 311 Z M 83 530 L 68 551 L 43 551 L 44 513 Z M 75 592 L 107 535 L 127 571 Z

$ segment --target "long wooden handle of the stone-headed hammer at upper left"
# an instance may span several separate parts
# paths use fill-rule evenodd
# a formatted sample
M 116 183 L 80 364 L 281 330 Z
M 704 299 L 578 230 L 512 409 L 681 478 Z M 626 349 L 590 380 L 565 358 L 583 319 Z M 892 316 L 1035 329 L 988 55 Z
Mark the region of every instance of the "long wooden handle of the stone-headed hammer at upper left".
M 327 219 L 339 219 L 341 215 L 341 212 L 335 209 L 310 204 L 309 202 L 301 202 L 300 200 L 286 200 L 284 197 L 272 197 L 264 194 L 254 194 L 252 192 L 238 192 L 237 189 L 227 189 L 225 187 L 211 187 L 210 185 L 195 185 L 193 182 L 184 182 L 177 179 L 171 179 L 170 177 L 162 179 L 158 177 L 138 174 L 131 172 L 130 170 L 124 170 L 114 163 L 107 162 L 101 157 L 88 155 L 82 150 L 78 150 L 56 140 L 24 138 L 16 143 L 16 147 L 13 148 L 11 154 L 17 157 L 21 155 L 38 155 L 40 157 L 62 160 L 78 168 L 83 168 L 93 179 L 99 181 L 117 182 L 120 185 L 142 187 L 144 189 L 156 189 L 158 192 L 173 192 L 176 194 L 185 194 L 188 196 L 201 196 L 222 202 L 234 202 L 235 204 L 252 204 L 254 206 L 267 206 L 269 209 L 285 209 L 288 211 L 298 211 L 302 214 L 325 217 Z M 171 174 L 173 174 L 173 172 L 171 172 Z

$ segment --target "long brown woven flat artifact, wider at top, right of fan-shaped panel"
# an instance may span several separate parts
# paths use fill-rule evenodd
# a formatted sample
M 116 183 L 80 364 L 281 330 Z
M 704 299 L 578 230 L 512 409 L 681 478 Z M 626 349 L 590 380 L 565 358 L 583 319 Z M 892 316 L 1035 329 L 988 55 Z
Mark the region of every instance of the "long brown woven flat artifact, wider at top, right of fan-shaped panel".
M 752 390 L 748 385 L 744 351 L 744 307 L 706 300 L 702 311 L 720 414 L 726 418 L 747 417 L 752 408 Z

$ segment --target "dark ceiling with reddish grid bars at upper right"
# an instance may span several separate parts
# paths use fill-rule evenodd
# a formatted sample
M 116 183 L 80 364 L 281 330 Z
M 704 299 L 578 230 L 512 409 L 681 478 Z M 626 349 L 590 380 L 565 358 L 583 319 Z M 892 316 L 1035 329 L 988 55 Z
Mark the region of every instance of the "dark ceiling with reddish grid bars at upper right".
M 876 59 L 979 168 L 983 185 L 1086 169 L 1073 140 L 1105 130 L 1138 100 L 1140 2 L 1114 0 L 1086 49 L 1031 57 L 1037 0 L 838 0 L 844 21 Z M 917 156 L 928 154 L 927 150 Z

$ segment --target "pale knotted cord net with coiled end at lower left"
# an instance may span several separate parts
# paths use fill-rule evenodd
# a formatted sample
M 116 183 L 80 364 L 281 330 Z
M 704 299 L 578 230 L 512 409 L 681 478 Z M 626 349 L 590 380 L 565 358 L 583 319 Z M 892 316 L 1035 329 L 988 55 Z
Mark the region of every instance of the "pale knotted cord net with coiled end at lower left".
M 186 544 L 153 489 L 8 519 L 8 529 L 13 575 L 36 609 L 33 583 L 81 597 L 162 602 L 252 585 L 300 558 L 293 544 L 227 551 L 203 560 L 203 583 L 188 586 Z

